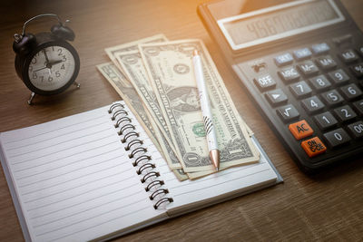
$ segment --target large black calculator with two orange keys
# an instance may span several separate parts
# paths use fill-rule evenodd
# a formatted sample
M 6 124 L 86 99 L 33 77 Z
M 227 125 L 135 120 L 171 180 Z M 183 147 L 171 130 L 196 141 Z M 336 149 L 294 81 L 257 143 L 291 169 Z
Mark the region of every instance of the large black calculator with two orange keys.
M 214 1 L 198 14 L 299 168 L 363 154 L 363 34 L 338 0 Z

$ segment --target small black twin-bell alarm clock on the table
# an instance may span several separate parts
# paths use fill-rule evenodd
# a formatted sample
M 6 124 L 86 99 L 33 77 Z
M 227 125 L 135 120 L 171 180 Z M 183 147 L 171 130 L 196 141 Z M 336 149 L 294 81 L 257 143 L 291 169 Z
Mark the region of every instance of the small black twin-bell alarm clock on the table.
M 25 33 L 26 25 L 40 17 L 54 17 L 58 24 L 54 24 L 50 32 Z M 15 70 L 32 91 L 28 104 L 32 104 L 35 93 L 57 94 L 73 83 L 80 87 L 78 82 L 74 82 L 80 70 L 80 59 L 74 47 L 68 43 L 74 41 L 75 36 L 65 23 L 58 15 L 36 15 L 25 22 L 22 34 L 14 35 Z

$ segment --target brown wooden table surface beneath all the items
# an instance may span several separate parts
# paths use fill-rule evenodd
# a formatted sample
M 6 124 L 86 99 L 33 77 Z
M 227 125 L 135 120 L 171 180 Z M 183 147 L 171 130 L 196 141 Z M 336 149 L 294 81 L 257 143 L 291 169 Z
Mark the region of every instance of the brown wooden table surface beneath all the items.
M 251 0 L 250 0 L 251 1 Z M 3 1 L 4 2 L 4 1 Z M 201 24 L 195 0 L 7 1 L 0 7 L 0 131 L 9 131 L 89 111 L 120 100 L 95 66 L 109 62 L 103 49 L 153 34 L 170 40 L 201 38 L 207 45 L 243 119 L 270 156 L 283 184 L 172 218 L 143 228 L 120 241 L 147 240 L 346 240 L 363 238 L 363 160 L 347 162 L 309 178 L 297 168 L 277 137 L 263 121 L 218 46 Z M 251 1 L 253 2 L 253 1 Z M 261 3 L 254 1 L 255 5 Z M 265 1 L 267 2 L 267 1 Z M 363 29 L 362 0 L 342 0 Z M 269 4 L 274 3 L 273 0 Z M 248 4 L 253 8 L 253 4 Z M 24 22 L 41 13 L 56 13 L 72 20 L 75 48 L 81 57 L 80 90 L 35 98 L 16 76 L 13 34 Z M 52 23 L 36 21 L 29 32 L 49 31 Z M 348 161 L 348 160 L 347 160 Z M 0 241 L 24 240 L 15 208 L 0 169 Z

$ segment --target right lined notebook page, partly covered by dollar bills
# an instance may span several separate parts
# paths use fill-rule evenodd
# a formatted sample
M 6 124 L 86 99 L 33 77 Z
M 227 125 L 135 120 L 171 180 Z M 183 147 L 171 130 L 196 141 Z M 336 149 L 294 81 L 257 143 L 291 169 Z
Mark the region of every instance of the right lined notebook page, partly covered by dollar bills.
M 254 144 L 256 142 L 252 139 Z M 159 162 L 165 184 L 171 192 L 173 202 L 168 206 L 168 214 L 184 213 L 212 202 L 221 201 L 233 195 L 247 193 L 258 187 L 273 184 L 277 180 L 277 174 L 260 150 L 258 163 L 224 169 L 207 177 L 196 180 L 179 181 L 175 178 L 166 164 Z

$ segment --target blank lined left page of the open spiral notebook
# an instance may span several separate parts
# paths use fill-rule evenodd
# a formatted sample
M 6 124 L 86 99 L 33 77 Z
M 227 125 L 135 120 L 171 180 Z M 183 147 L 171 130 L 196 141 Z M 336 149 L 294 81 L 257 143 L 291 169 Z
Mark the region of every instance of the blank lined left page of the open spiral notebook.
M 32 240 L 89 240 L 161 215 L 107 110 L 1 133 Z

